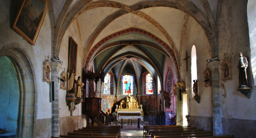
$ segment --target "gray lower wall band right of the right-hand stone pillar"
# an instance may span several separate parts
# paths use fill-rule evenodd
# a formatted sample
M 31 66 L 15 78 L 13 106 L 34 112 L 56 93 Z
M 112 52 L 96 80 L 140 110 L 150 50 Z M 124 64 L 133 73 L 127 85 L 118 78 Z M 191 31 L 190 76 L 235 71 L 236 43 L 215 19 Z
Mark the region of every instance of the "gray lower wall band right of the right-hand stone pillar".
M 256 138 L 256 120 L 222 118 L 222 135 Z

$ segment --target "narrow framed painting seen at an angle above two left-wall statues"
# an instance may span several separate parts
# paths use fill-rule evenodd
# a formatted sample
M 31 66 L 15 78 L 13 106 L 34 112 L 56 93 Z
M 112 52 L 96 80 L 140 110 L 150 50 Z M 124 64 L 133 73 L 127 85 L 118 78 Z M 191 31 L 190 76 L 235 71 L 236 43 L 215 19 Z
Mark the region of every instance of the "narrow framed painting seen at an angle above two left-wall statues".
M 71 69 L 74 69 L 74 73 L 76 74 L 77 56 L 78 56 L 78 44 L 71 37 L 70 45 L 69 45 L 68 72 L 70 72 Z

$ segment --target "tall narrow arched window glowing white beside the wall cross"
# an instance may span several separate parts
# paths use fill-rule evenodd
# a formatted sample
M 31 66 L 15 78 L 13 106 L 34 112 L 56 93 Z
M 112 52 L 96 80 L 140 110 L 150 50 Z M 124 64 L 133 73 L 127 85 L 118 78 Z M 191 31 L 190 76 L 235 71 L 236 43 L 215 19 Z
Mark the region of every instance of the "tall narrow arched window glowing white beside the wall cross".
M 196 47 L 195 45 L 192 46 L 191 50 L 191 86 L 193 86 L 193 80 L 197 79 L 197 66 L 196 66 Z M 192 92 L 192 96 L 195 94 Z

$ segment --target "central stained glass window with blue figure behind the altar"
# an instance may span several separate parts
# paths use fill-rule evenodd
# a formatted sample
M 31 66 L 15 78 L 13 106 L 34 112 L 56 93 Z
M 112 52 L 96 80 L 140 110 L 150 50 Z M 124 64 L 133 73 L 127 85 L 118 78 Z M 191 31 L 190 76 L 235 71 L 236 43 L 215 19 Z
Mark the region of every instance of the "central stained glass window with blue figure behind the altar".
M 123 75 L 123 95 L 133 95 L 133 76 Z

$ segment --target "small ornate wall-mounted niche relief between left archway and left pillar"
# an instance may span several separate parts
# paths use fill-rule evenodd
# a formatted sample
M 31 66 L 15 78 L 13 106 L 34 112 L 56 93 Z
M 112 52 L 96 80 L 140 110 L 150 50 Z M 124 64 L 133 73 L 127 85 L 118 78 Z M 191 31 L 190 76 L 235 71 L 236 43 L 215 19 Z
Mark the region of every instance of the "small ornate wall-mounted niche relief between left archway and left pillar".
M 51 82 L 50 80 L 50 72 L 52 66 L 50 65 L 49 56 L 46 57 L 45 62 L 43 63 L 43 81 L 47 82 L 48 84 Z

